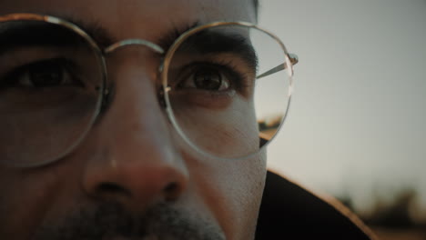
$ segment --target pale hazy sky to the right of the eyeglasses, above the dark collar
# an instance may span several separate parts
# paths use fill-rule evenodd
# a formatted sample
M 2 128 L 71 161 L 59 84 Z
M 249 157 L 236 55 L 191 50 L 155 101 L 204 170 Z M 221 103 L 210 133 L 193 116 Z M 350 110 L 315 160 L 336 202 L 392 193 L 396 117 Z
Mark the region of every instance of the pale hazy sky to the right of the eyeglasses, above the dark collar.
M 404 188 L 426 214 L 426 0 L 260 0 L 299 55 L 269 168 L 360 211 Z

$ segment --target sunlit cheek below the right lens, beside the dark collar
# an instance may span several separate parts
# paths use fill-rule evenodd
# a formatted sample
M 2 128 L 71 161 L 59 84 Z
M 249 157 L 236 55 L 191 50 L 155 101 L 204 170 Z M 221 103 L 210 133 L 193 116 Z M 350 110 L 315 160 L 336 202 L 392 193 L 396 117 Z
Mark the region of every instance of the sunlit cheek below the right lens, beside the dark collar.
M 192 173 L 198 192 L 213 212 L 228 239 L 254 235 L 265 184 L 266 156 L 236 161 L 218 160 Z M 207 168 L 208 167 L 208 168 Z

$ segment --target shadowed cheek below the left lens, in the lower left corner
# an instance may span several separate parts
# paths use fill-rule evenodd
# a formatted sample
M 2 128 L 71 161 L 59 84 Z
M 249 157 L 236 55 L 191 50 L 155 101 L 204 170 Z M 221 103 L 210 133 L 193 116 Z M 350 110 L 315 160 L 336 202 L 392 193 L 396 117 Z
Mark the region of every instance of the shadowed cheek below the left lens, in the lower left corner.
M 0 239 L 29 239 L 47 215 L 76 199 L 77 181 L 69 176 L 77 173 L 71 163 L 64 159 L 37 169 L 0 167 Z

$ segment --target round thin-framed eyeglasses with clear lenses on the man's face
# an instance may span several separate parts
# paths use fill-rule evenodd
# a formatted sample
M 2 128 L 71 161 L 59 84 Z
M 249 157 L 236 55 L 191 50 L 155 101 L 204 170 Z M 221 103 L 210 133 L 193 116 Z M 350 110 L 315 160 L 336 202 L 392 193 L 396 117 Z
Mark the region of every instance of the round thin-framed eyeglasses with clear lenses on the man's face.
M 159 104 L 197 153 L 256 155 L 289 109 L 296 55 L 257 25 L 218 22 L 180 35 L 167 52 L 143 39 L 102 49 L 50 15 L 0 16 L 0 163 L 46 165 L 79 145 L 110 89 L 106 55 L 144 45 L 162 56 Z

